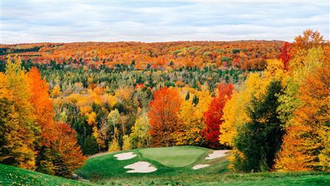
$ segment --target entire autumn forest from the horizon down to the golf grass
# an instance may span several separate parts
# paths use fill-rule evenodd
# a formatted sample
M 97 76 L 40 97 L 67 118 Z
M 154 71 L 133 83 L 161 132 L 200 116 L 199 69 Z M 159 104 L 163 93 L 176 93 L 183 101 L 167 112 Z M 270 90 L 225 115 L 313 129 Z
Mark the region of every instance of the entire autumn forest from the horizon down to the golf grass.
M 232 149 L 234 172 L 330 171 L 329 41 L 0 45 L 0 163 L 70 177 L 179 145 Z

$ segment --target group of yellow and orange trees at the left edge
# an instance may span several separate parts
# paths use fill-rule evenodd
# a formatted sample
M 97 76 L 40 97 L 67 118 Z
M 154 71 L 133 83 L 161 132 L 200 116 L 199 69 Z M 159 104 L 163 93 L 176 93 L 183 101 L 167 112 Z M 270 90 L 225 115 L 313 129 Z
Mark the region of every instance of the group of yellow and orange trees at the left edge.
M 85 157 L 76 132 L 54 122 L 48 85 L 39 71 L 26 72 L 8 59 L 0 73 L 0 162 L 59 176 L 71 176 Z

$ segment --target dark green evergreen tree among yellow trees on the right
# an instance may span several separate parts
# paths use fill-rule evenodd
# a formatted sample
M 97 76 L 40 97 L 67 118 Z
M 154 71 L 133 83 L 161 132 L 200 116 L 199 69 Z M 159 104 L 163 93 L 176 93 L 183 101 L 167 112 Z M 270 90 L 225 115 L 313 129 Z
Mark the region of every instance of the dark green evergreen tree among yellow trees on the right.
M 281 82 L 272 81 L 261 99 L 252 98 L 248 108 L 251 121 L 241 126 L 234 138 L 234 147 L 243 154 L 243 157 L 236 156 L 234 169 L 260 172 L 274 165 L 284 134 L 283 122 L 277 112 L 280 94 L 283 94 Z

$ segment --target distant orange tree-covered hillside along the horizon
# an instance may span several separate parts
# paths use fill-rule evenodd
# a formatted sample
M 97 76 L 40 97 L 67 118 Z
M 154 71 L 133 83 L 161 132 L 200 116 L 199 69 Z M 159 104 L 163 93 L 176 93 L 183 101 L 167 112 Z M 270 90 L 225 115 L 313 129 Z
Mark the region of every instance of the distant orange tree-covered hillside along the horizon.
M 117 64 L 135 68 L 179 68 L 216 65 L 234 66 L 243 70 L 263 69 L 266 59 L 277 58 L 284 41 L 178 41 L 164 43 L 31 43 L 0 45 L 0 59 L 19 54 L 36 63 L 66 63 L 98 67 Z

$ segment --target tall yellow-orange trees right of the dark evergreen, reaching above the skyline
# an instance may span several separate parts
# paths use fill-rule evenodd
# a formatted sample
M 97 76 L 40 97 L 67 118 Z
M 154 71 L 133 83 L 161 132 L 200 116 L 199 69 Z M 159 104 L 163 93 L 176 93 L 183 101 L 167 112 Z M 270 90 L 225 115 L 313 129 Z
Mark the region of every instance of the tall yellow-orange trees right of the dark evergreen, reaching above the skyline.
M 323 50 L 318 33 L 307 31 L 294 42 L 290 83 L 280 97 L 287 134 L 276 159 L 278 171 L 329 170 L 329 50 Z

